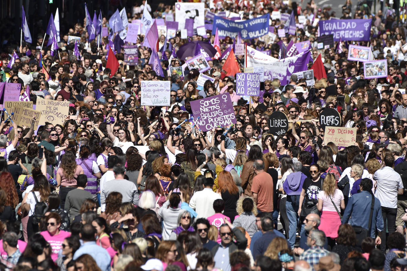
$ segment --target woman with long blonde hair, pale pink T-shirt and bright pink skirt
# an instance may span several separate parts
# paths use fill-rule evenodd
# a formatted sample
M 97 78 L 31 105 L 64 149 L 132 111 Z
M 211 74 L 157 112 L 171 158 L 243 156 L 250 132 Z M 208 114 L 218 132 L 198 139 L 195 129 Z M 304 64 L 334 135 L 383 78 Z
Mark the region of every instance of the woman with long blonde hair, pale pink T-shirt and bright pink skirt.
M 322 190 L 318 193 L 317 208 L 321 212 L 321 224 L 319 229 L 325 232 L 328 238 L 328 245 L 335 245 L 335 238 L 338 237 L 338 229 L 341 223 L 341 213 L 339 208 L 345 209 L 344 194 L 336 185 L 335 175 L 328 173 L 322 182 Z

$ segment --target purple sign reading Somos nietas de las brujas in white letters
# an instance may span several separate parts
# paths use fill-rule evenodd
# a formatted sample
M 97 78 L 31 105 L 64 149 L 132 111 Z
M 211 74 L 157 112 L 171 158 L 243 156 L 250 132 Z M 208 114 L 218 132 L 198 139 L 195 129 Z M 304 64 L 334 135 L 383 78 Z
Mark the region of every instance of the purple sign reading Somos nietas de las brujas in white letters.
M 197 126 L 204 132 L 219 126 L 236 124 L 236 117 L 229 93 L 191 101 L 191 109 Z M 199 117 L 199 119 L 198 119 Z

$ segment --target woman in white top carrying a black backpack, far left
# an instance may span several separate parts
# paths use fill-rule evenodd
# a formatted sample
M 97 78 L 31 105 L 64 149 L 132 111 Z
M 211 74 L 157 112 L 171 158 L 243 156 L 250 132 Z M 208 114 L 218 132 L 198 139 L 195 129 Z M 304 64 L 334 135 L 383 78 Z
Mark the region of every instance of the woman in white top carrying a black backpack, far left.
M 44 216 L 48 206 L 46 199 L 50 194 L 50 187 L 47 178 L 39 168 L 33 169 L 34 186 L 33 189 L 24 195 L 21 203 L 22 210 L 28 212 L 27 236 L 30 238 L 38 232 L 38 224 Z

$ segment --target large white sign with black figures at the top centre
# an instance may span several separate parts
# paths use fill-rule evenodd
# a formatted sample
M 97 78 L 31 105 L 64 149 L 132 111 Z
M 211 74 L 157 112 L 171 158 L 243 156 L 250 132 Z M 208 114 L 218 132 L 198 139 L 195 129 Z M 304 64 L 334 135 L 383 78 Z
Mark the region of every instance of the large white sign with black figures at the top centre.
M 175 22 L 178 22 L 178 29 L 185 28 L 185 19 L 193 19 L 194 27 L 205 25 L 205 3 L 176 3 Z

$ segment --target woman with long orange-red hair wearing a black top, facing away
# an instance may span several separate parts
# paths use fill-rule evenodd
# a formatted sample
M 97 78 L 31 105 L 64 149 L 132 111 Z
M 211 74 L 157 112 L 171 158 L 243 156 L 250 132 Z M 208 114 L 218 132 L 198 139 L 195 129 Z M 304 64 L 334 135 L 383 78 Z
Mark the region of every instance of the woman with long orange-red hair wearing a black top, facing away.
M 222 196 L 222 199 L 225 201 L 225 210 L 223 214 L 228 216 L 230 218 L 230 222 L 233 223 L 234 217 L 237 215 L 236 203 L 239 199 L 239 188 L 233 181 L 233 177 L 230 172 L 225 170 L 219 174 L 218 185 L 219 188 L 217 193 L 219 193 Z

